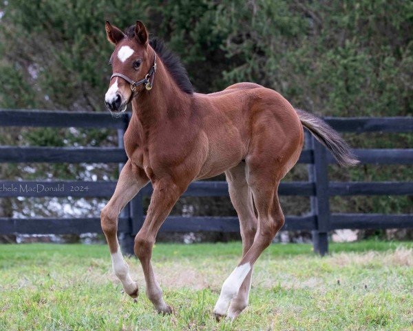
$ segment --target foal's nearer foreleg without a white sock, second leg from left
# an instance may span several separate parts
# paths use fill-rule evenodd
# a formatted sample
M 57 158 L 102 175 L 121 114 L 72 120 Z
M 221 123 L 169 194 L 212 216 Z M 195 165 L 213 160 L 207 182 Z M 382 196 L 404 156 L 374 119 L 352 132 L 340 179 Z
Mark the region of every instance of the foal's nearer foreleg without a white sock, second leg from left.
M 169 314 L 171 307 L 165 303 L 162 297 L 162 290 L 153 273 L 151 265 L 152 248 L 160 225 L 165 221 L 173 205 L 186 188 L 187 185 L 184 185 L 184 187 L 182 185 L 178 186 L 171 180 L 160 179 L 154 182 L 147 217 L 135 238 L 134 250 L 140 263 L 142 263 L 147 297 L 153 303 L 156 310 L 163 314 Z

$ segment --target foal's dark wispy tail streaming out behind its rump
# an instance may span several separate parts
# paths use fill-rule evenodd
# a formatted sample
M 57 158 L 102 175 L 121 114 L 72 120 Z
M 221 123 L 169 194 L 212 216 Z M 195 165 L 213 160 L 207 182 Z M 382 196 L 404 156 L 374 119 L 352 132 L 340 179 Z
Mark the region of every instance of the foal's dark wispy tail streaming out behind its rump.
M 359 163 L 359 160 L 354 157 L 350 146 L 340 137 L 336 130 L 313 114 L 299 109 L 296 109 L 296 111 L 301 124 L 305 126 L 320 143 L 330 150 L 341 167 L 357 165 L 357 163 Z

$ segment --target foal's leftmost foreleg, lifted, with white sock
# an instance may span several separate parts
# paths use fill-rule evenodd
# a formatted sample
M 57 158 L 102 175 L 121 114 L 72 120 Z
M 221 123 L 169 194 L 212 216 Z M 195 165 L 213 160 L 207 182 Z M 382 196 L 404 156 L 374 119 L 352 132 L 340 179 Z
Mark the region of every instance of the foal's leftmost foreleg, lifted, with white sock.
M 123 289 L 132 298 L 138 296 L 138 284 L 132 281 L 129 275 L 129 266 L 123 259 L 122 252 L 120 252 L 118 236 L 116 234 L 118 231 L 118 216 L 120 210 L 125 207 L 148 181 L 149 179 L 143 170 L 139 169 L 131 161 L 127 161 L 120 172 L 114 195 L 100 214 L 100 223 L 112 256 L 112 268 L 116 277 L 122 282 Z

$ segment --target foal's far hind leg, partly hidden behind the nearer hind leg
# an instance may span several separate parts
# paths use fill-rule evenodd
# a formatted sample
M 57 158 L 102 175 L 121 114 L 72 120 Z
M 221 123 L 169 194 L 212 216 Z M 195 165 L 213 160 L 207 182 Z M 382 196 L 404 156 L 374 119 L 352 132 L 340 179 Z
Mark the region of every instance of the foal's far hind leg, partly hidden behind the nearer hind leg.
M 253 194 L 246 182 L 245 163 L 227 170 L 226 180 L 229 186 L 229 196 L 240 219 L 242 237 L 242 256 L 248 252 L 253 244 L 255 232 L 257 231 L 257 218 L 255 217 Z M 231 319 L 237 317 L 248 305 L 248 294 L 251 288 L 251 277 L 253 270 L 248 272 L 237 295 L 232 299 L 229 306 L 228 316 Z

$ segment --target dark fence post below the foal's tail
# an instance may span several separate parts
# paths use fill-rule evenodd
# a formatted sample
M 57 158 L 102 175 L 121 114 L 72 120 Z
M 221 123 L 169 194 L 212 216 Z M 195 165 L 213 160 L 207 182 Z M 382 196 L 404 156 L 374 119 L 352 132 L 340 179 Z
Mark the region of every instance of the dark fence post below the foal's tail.
M 311 212 L 317 216 L 317 230 L 312 231 L 313 248 L 315 252 L 324 256 L 328 253 L 328 230 L 330 230 L 328 162 L 326 148 L 313 136 L 308 140 L 314 152 L 314 164 L 308 166 L 308 179 L 315 183 L 315 197 L 310 197 Z

